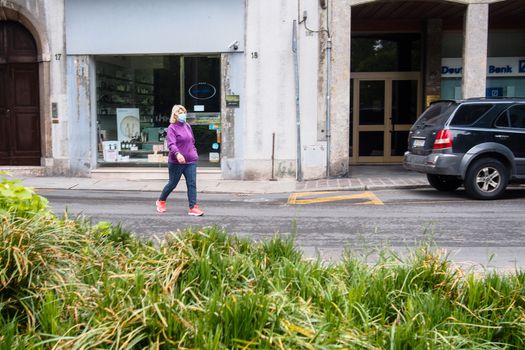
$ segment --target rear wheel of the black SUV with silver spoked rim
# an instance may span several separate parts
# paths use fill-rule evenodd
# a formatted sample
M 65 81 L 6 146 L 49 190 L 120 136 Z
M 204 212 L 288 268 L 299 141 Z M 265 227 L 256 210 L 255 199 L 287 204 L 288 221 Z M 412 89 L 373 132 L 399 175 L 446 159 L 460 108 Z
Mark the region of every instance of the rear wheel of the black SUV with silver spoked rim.
M 465 191 L 476 199 L 496 199 L 503 194 L 509 182 L 507 168 L 497 159 L 476 160 L 467 170 Z

